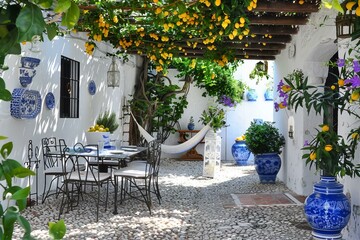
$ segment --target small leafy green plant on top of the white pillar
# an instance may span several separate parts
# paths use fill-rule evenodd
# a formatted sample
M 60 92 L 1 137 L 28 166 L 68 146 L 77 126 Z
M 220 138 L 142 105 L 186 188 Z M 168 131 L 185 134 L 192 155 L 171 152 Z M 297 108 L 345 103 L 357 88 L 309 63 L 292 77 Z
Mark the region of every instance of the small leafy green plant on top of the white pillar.
M 216 132 L 226 125 L 225 111 L 217 106 L 210 106 L 208 111 L 204 110 L 202 112 L 199 122 L 204 125 L 210 123 L 210 127 Z

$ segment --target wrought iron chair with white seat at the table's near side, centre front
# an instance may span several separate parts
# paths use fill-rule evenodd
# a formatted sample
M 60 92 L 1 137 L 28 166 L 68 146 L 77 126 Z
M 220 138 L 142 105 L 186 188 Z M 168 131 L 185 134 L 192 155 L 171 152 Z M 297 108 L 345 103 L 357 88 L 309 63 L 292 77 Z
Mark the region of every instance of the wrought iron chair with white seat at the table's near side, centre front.
M 102 163 L 99 157 L 98 145 L 82 145 L 81 143 L 75 144 L 73 149 L 67 148 L 62 154 L 65 159 L 66 167 L 72 166 L 74 171 L 68 172 L 64 177 L 64 191 L 61 201 L 59 217 L 64 209 L 73 209 L 74 206 L 79 204 L 80 197 L 89 193 L 92 196 L 93 188 L 97 188 L 96 196 L 96 221 L 99 219 L 99 205 L 101 201 L 101 189 L 106 185 L 105 196 L 105 211 L 107 210 L 107 202 L 109 196 L 109 182 L 111 181 L 111 174 L 98 171 Z M 89 164 L 91 161 L 91 164 Z M 96 164 L 95 164 L 96 162 Z M 82 166 L 85 164 L 86 168 Z M 90 189 L 87 187 L 91 186 Z M 77 198 L 77 201 L 74 199 Z M 76 205 L 74 205 L 76 203 Z

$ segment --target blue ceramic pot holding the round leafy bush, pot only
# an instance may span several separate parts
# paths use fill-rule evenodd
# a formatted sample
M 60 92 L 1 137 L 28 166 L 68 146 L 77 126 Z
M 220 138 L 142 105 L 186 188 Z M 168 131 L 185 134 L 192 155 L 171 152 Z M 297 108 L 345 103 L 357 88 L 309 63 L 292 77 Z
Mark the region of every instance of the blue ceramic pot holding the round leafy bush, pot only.
M 281 167 L 281 158 L 277 153 L 263 153 L 254 156 L 256 172 L 260 183 L 275 183 Z

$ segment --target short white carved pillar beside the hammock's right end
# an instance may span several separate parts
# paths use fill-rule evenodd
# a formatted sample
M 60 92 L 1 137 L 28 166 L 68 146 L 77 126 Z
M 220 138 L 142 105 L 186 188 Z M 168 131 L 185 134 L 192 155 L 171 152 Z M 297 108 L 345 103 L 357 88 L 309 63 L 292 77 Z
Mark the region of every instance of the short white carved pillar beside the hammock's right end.
M 221 131 L 211 129 L 205 136 L 203 176 L 214 178 L 221 167 Z

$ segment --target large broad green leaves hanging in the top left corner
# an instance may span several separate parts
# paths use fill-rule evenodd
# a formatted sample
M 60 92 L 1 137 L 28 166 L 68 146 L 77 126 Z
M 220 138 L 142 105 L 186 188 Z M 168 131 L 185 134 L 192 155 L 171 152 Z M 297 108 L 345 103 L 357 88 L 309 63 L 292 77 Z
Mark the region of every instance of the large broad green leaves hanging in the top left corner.
M 0 6 L 1 68 L 6 55 L 20 54 L 21 42 L 31 41 L 35 35 L 42 37 L 43 33 L 49 34 L 49 39 L 52 39 L 55 33 L 60 32 L 56 22 L 45 22 L 42 9 L 49 12 L 56 9 L 58 14 L 63 13 L 62 25 L 69 29 L 75 26 L 80 16 L 79 7 L 73 0 L 14 0 L 5 1 Z

